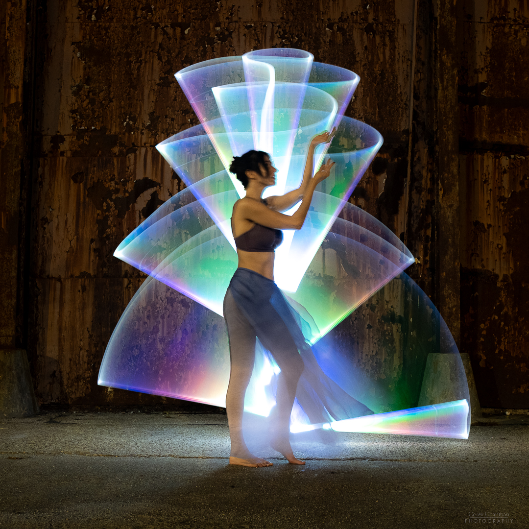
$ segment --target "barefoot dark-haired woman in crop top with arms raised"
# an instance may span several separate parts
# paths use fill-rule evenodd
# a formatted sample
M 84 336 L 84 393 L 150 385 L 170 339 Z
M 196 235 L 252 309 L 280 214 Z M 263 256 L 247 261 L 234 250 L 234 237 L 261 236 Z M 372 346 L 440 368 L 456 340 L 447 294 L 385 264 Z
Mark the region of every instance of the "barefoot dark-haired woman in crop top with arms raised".
M 242 434 L 244 395 L 252 375 L 256 337 L 281 369 L 270 445 L 289 463 L 305 464 L 294 456 L 289 442 L 290 413 L 298 380 L 305 368 L 299 354 L 303 336 L 300 336 L 291 309 L 274 282 L 274 250 L 281 244 L 281 229 L 301 229 L 315 187 L 329 176 L 334 166 L 331 160 L 327 160 L 312 176 L 314 149 L 316 145 L 331 141 L 334 132 L 314 136 L 308 148 L 301 185 L 282 196 L 261 198 L 263 190 L 276 183 L 277 169 L 267 153 L 249 151 L 235 157 L 230 166 L 230 171 L 236 174 L 246 189 L 246 196 L 233 206 L 232 232 L 239 267 L 224 298 L 231 359 L 230 384 L 226 394 L 231 438 L 230 464 L 245 467 L 268 467 L 272 464 L 250 453 Z M 293 215 L 280 213 L 299 200 L 302 203 Z

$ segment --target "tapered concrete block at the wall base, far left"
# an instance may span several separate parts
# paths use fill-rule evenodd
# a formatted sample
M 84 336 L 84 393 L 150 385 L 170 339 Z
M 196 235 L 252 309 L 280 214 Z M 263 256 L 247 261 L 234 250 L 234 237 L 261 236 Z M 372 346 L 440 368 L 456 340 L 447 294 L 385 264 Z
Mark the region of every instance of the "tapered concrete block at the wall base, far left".
M 23 349 L 0 350 L 0 417 L 29 417 L 39 413 L 28 355 Z

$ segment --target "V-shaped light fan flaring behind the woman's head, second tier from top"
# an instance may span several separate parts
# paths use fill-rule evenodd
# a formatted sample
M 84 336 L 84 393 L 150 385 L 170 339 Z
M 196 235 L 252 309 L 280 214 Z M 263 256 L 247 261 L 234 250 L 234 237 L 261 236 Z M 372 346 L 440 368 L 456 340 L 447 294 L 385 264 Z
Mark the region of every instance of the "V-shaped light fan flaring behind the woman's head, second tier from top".
M 307 95 L 312 93 L 312 90 L 308 89 Z M 325 92 L 322 94 L 322 101 L 329 101 L 330 96 Z M 282 162 L 281 158 L 276 158 L 280 165 L 289 167 L 284 190 L 288 191 L 299 185 L 308 142 L 318 130 L 322 130 L 319 128 L 322 126 L 322 114 L 332 116 L 333 112 L 332 108 L 328 107 L 325 113 L 312 108 L 304 109 L 300 113 L 300 123 L 303 124 L 304 132 L 297 134 L 294 142 L 294 149 L 298 150 L 300 154 L 291 156 L 285 162 Z M 326 124 L 330 125 L 331 123 L 327 122 Z M 215 143 L 209 141 L 210 136 L 199 134 L 202 131 L 199 126 L 194 127 L 194 129 L 197 132 L 196 136 L 189 137 L 189 131 L 185 131 L 157 145 L 157 148 L 175 172 L 178 172 L 186 184 L 191 186 L 196 198 L 235 248 L 229 219 L 237 197 L 236 195 L 222 194 L 232 188 L 230 182 L 234 184 L 234 177 L 227 172 L 219 171 L 215 173 L 214 178 L 207 180 L 207 185 L 203 182 L 211 176 L 210 171 L 222 167 L 222 163 L 216 155 Z M 277 134 L 280 135 L 281 133 L 279 131 Z M 239 132 L 236 138 L 241 138 L 244 135 L 247 140 L 251 138 L 250 131 Z M 285 241 L 277 251 L 274 272 L 277 285 L 281 289 L 289 292 L 297 290 L 305 270 L 320 248 L 334 219 L 343 208 L 344 200 L 351 195 L 381 144 L 380 134 L 372 127 L 351 120 L 351 118 L 344 117 L 342 119 L 331 146 L 331 157 L 336 162 L 334 172 L 318 185 L 317 193 L 311 205 L 317 214 L 312 215 L 313 222 L 306 222 L 301 230 L 295 233 L 285 231 Z M 202 186 L 194 186 L 199 182 L 202 183 Z M 215 183 L 216 187 L 213 187 L 212 183 Z M 235 188 L 234 185 L 233 188 Z M 270 193 L 273 193 L 274 188 L 271 189 Z M 233 200 L 229 200 L 228 196 L 233 197 Z M 318 220 L 316 221 L 316 219 Z

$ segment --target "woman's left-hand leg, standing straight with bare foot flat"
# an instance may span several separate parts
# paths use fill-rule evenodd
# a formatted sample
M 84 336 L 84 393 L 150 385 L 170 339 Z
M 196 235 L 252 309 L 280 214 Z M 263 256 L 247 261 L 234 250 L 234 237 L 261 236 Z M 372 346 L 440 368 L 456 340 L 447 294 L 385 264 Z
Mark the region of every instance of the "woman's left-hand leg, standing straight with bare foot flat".
M 253 371 L 256 333 L 233 300 L 230 289 L 224 297 L 224 317 L 230 341 L 230 383 L 226 393 L 226 415 L 230 427 L 230 463 L 245 467 L 267 467 L 272 463 L 253 455 L 244 442 L 242 415 L 244 396 Z

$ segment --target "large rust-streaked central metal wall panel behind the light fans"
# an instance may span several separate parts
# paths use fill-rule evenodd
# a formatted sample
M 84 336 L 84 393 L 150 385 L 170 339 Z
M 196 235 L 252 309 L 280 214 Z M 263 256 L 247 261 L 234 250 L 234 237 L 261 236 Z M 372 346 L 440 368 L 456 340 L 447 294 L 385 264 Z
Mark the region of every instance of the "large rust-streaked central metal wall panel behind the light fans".
M 43 402 L 156 400 L 107 391 L 96 378 L 113 327 L 143 279 L 112 253 L 182 188 L 154 149 L 197 123 L 174 72 L 252 48 L 295 45 L 358 72 L 362 82 L 349 114 L 376 126 L 388 144 L 400 144 L 412 6 L 368 8 L 350 0 L 187 0 L 154 7 L 49 0 L 43 6 L 31 311 L 32 363 Z

